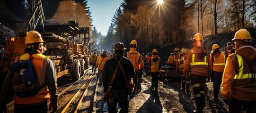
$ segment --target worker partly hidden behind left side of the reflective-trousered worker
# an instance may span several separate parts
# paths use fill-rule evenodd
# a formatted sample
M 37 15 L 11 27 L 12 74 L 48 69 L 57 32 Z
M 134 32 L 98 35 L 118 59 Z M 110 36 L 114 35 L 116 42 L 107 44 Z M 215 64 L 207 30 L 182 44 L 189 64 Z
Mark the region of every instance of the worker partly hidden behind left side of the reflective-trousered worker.
M 186 94 L 190 95 L 190 93 L 189 93 L 190 79 L 188 77 L 185 78 L 183 75 L 183 68 L 184 68 L 185 59 L 187 56 L 186 54 L 187 54 L 186 49 L 185 48 L 181 49 L 180 56 L 179 56 L 179 58 L 177 60 L 177 64 L 176 64 L 176 70 L 177 70 L 177 72 L 180 73 L 180 81 L 181 81 L 181 86 L 182 86 L 181 90 L 184 92 L 186 91 Z M 185 85 L 186 85 L 186 87 L 185 87 Z

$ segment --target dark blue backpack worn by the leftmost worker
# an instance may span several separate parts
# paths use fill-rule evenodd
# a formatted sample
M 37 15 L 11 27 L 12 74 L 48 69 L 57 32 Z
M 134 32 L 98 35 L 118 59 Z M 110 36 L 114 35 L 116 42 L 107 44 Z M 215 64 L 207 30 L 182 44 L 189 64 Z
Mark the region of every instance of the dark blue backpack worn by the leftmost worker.
M 30 59 L 18 60 L 8 67 L 11 72 L 16 73 L 12 78 L 12 88 L 18 97 L 33 96 L 45 86 L 45 84 L 41 87 L 36 85 L 38 78 L 32 60 L 33 57 L 30 55 Z

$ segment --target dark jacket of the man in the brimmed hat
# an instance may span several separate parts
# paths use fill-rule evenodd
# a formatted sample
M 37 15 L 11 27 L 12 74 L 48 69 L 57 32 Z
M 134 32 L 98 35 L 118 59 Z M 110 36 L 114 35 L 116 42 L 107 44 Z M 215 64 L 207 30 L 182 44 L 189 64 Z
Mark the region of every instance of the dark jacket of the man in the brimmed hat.
M 122 56 L 115 56 L 119 60 Z M 124 57 L 121 61 L 121 65 L 124 68 L 124 73 L 126 74 L 126 80 L 128 81 L 129 78 L 133 78 L 135 75 L 134 67 L 132 65 L 132 61 L 126 57 Z M 114 57 L 108 59 L 106 61 L 106 64 L 104 65 L 103 72 L 102 72 L 102 82 L 103 82 L 103 87 L 104 91 L 109 88 L 110 81 L 112 79 L 112 76 L 115 72 L 115 68 L 117 66 L 117 61 L 115 60 Z M 112 89 L 126 89 L 126 83 L 124 79 L 124 75 L 118 67 L 115 79 L 112 83 Z

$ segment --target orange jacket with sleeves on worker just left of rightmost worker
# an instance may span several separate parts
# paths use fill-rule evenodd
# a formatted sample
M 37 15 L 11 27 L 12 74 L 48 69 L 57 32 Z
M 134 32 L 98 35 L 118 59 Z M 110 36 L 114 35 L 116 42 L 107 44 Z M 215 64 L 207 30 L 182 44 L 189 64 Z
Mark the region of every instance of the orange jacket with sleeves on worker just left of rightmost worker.
M 210 57 L 211 69 L 214 72 L 223 72 L 226 63 L 226 55 L 224 53 L 219 53 L 213 56 L 213 63 L 212 57 Z

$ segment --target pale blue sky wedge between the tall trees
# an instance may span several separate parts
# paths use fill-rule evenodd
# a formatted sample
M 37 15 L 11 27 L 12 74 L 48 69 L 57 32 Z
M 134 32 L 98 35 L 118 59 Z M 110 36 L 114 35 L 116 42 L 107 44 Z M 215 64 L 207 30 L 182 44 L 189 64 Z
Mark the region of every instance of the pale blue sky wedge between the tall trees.
M 93 18 L 93 26 L 98 32 L 103 35 L 107 34 L 111 19 L 113 18 L 116 9 L 124 0 L 88 0 L 91 16 Z

